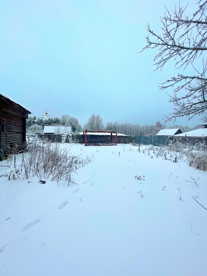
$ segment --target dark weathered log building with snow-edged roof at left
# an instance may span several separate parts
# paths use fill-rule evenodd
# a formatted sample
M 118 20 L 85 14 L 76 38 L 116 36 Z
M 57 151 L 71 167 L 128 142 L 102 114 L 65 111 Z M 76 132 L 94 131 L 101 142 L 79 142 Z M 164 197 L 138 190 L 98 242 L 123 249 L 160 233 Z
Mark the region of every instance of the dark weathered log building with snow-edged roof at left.
M 21 151 L 26 141 L 26 119 L 31 112 L 0 93 L 0 149 L 6 156 L 16 147 Z

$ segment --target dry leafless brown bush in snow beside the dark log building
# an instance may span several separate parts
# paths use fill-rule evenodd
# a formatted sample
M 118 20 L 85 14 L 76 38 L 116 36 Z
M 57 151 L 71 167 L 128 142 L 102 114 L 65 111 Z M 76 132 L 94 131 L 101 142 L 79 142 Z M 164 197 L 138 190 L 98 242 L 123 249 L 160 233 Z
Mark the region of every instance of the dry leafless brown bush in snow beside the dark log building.
M 60 143 L 44 141 L 40 145 L 38 141 L 33 141 L 27 147 L 27 152 L 22 153 L 22 164 L 20 171 L 23 178 L 28 179 L 31 175 L 36 175 L 39 179 L 50 179 L 51 181 L 61 180 L 75 183 L 72 174 L 75 170 L 86 165 L 91 160 L 85 160 L 72 156 L 70 147 L 62 147 Z M 76 183 L 75 183 L 76 184 Z

